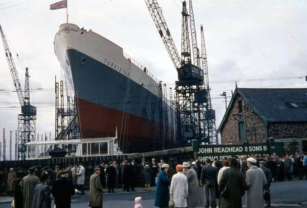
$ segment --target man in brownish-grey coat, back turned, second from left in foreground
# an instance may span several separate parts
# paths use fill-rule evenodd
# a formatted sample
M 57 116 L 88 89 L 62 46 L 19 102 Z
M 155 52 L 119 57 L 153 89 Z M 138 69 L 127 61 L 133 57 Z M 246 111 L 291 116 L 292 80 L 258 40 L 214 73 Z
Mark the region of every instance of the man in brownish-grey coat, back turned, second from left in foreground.
M 21 180 L 21 187 L 24 196 L 24 208 L 31 208 L 34 188 L 37 184 L 40 184 L 40 180 L 35 176 L 36 168 L 32 167 L 29 169 L 29 174 Z

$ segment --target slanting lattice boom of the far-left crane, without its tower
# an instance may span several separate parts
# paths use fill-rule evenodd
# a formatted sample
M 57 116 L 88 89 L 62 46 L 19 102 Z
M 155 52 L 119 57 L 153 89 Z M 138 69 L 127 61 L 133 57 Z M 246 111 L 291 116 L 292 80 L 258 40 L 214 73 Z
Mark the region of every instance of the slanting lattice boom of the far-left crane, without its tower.
M 15 85 L 15 89 L 18 95 L 18 99 L 20 102 L 21 106 L 24 106 L 24 95 L 23 95 L 23 90 L 21 89 L 21 85 L 20 85 L 20 81 L 18 78 L 18 73 L 15 67 L 15 63 L 11 54 L 11 50 L 9 48 L 9 44 L 8 41 L 6 40 L 6 37 L 4 35 L 4 32 L 2 30 L 2 27 L 0 25 L 0 32 L 1 32 L 1 37 L 2 37 L 2 41 L 3 41 L 3 46 L 4 46 L 4 51 L 5 51 L 5 55 L 9 64 L 9 68 L 10 68 L 10 72 L 13 78 L 13 82 Z

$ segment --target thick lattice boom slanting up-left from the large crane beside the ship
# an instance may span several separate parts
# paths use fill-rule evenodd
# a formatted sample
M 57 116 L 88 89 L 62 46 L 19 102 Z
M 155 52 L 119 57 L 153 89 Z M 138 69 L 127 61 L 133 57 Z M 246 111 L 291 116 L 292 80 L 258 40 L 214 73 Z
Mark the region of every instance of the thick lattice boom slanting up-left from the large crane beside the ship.
M 152 17 L 153 22 L 155 22 L 156 27 L 158 29 L 158 32 L 162 38 L 162 41 L 166 47 L 166 50 L 178 70 L 181 68 L 181 61 L 179 57 L 178 50 L 176 48 L 176 45 L 170 35 L 170 32 L 168 30 L 167 24 L 165 22 L 164 16 L 162 14 L 161 7 L 159 6 L 157 0 L 144 0 L 146 3 L 146 6 L 149 10 L 149 13 Z

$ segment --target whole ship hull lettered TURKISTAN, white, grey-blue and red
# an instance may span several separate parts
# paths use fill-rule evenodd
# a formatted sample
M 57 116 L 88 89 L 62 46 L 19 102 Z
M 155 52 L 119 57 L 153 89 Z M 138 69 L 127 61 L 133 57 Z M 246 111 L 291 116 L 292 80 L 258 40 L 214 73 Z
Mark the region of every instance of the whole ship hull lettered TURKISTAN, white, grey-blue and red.
M 81 139 L 112 137 L 117 128 L 116 142 L 124 153 L 176 145 L 174 116 L 169 115 L 173 108 L 161 82 L 123 48 L 92 30 L 64 23 L 54 49 L 74 89 Z

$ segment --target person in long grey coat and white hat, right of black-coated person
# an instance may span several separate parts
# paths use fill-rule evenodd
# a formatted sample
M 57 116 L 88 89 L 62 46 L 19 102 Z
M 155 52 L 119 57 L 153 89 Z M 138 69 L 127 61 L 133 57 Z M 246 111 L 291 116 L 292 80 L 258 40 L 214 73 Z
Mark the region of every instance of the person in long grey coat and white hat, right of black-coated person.
M 266 175 L 263 170 L 256 166 L 254 158 L 247 159 L 246 184 L 246 204 L 249 208 L 264 207 L 264 187 L 267 184 Z

